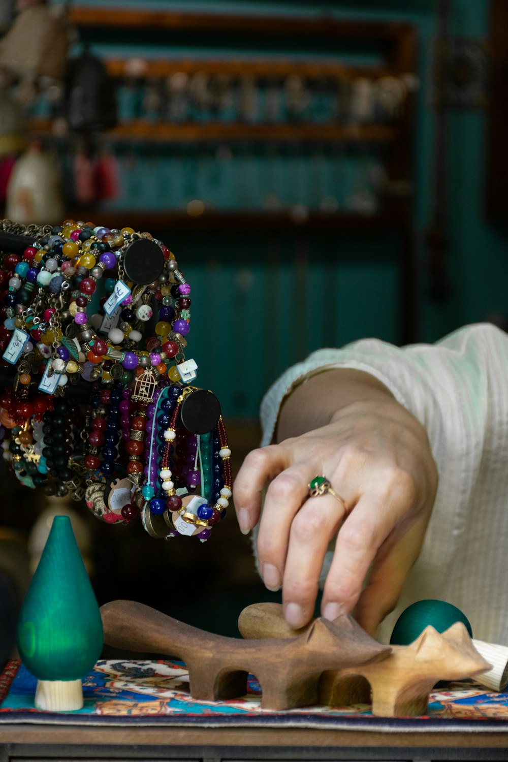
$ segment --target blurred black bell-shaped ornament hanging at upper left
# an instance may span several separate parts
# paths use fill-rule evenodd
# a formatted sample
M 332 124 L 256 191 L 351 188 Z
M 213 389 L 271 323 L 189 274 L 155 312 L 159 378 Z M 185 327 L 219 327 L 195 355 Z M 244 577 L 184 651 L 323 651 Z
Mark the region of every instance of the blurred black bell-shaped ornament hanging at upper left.
M 110 130 L 117 123 L 113 82 L 104 63 L 86 46 L 81 56 L 69 61 L 64 110 L 69 130 L 75 132 Z

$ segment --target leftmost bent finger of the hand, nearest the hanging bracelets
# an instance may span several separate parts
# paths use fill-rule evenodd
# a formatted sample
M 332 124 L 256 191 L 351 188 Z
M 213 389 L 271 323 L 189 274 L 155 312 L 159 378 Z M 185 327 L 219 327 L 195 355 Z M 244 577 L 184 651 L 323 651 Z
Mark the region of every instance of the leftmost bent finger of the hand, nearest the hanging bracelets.
M 233 501 L 242 533 L 248 534 L 257 524 L 267 479 L 273 479 L 287 466 L 289 453 L 283 445 L 273 444 L 248 453 L 233 486 Z

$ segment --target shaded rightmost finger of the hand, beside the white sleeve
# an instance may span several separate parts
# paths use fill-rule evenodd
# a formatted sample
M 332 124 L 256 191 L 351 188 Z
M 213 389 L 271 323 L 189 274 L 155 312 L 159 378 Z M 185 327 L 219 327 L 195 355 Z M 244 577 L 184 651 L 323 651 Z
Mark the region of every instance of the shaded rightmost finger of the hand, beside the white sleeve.
M 420 553 L 426 524 L 426 517 L 415 521 L 403 536 L 382 548 L 375 559 L 355 612 L 359 625 L 372 637 L 397 605 L 407 575 Z

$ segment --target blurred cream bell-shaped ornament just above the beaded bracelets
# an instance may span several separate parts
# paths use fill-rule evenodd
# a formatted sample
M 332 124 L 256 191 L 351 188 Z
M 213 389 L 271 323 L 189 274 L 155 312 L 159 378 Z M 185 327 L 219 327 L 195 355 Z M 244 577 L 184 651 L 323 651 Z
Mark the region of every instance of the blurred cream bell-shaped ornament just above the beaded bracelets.
M 5 213 L 24 225 L 54 224 L 65 216 L 58 167 L 40 143 L 32 143 L 14 165 Z

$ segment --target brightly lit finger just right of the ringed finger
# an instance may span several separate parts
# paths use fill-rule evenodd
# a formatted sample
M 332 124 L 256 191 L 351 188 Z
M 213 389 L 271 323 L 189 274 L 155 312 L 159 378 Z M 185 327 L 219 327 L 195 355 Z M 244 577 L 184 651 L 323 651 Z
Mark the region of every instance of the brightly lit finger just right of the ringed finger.
M 369 566 L 401 520 L 401 510 L 402 506 L 386 495 L 371 493 L 359 499 L 337 535 L 321 602 L 326 619 L 353 610 Z

